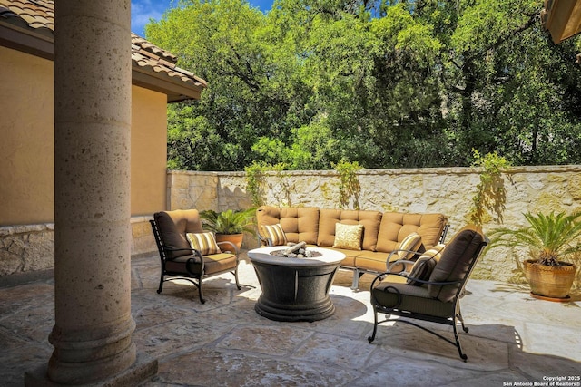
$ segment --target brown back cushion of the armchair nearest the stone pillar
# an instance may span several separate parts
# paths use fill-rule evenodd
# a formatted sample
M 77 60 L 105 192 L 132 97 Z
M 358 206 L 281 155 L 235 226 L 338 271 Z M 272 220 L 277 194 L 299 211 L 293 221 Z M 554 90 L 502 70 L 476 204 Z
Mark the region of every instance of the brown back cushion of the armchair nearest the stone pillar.
M 163 245 L 167 248 L 183 248 L 182 251 L 167 251 L 168 259 L 178 256 L 189 256 L 192 251 L 188 249 L 190 243 L 186 238 L 187 233 L 201 233 L 202 221 L 197 209 L 176 209 L 174 211 L 162 211 L 153 214 L 162 236 Z

